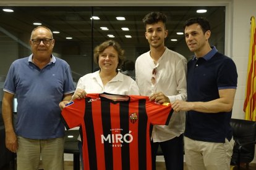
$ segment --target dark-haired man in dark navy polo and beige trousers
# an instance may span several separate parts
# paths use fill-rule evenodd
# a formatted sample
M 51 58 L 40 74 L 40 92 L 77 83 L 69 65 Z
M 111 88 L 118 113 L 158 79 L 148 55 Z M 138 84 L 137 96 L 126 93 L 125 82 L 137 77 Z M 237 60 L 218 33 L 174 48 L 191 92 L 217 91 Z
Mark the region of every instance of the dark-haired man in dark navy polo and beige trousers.
M 187 64 L 187 102 L 176 100 L 175 111 L 187 111 L 184 133 L 189 169 L 229 169 L 234 140 L 229 124 L 237 87 L 233 60 L 211 47 L 205 18 L 184 23 L 185 38 L 194 59 Z

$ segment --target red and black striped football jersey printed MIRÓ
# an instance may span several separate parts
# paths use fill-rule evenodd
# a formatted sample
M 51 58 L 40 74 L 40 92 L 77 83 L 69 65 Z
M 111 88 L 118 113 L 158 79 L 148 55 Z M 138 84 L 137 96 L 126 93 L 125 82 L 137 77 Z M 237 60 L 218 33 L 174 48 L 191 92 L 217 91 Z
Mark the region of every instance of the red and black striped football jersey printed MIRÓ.
M 87 94 L 62 110 L 67 129 L 80 126 L 84 169 L 151 169 L 152 124 L 168 124 L 170 103 L 147 96 Z

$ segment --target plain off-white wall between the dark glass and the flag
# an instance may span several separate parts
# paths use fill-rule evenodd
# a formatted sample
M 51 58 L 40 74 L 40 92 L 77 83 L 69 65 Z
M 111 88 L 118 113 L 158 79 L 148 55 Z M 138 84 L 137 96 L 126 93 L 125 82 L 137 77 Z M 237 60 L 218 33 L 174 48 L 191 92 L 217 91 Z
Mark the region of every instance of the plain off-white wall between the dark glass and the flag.
M 233 2 L 233 60 L 238 73 L 237 92 L 233 107 L 233 118 L 244 119 L 244 98 L 250 45 L 250 17 L 256 17 L 256 1 L 234 0 Z M 256 152 L 256 151 L 255 151 Z M 256 162 L 256 156 L 254 158 Z

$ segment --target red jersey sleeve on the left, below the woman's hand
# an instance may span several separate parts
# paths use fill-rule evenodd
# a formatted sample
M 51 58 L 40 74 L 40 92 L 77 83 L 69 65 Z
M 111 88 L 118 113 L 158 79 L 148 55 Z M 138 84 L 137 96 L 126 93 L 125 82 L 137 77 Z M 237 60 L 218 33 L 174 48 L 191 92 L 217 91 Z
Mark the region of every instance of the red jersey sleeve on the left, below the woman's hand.
M 85 100 L 76 99 L 67 104 L 61 111 L 62 121 L 67 129 L 78 127 L 82 124 L 85 114 Z

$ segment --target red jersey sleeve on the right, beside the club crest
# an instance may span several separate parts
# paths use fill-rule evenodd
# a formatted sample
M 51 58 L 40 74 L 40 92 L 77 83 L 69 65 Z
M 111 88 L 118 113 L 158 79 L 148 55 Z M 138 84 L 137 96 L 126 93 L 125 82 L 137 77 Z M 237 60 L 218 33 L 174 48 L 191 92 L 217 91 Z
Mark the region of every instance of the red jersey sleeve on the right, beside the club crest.
M 171 116 L 173 115 L 173 109 L 171 103 L 155 103 L 147 100 L 146 110 L 148 119 L 151 124 L 168 125 Z

